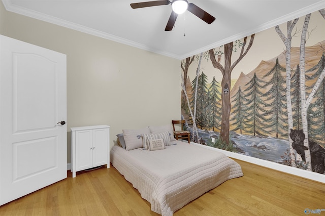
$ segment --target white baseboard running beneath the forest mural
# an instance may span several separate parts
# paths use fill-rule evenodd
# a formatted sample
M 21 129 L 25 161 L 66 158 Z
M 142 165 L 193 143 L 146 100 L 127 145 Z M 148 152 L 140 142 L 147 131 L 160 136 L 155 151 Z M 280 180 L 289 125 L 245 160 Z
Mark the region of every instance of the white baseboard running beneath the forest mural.
M 205 146 L 205 145 L 201 145 L 198 143 L 193 143 L 191 142 L 191 144 L 193 145 L 197 145 L 200 147 L 204 147 L 204 148 L 208 148 L 208 149 L 212 149 L 214 151 L 218 151 L 218 152 L 222 152 L 223 154 L 225 154 L 228 157 L 232 157 L 238 160 L 243 160 L 249 163 L 254 163 L 260 166 L 265 166 L 271 169 L 276 169 L 278 171 L 282 171 L 282 172 L 286 172 L 288 174 L 292 174 L 295 176 L 299 176 L 302 178 L 306 178 L 306 179 L 310 179 L 313 181 L 317 181 L 317 182 L 321 182 L 321 183 L 325 183 L 325 175 L 323 174 L 319 174 L 317 172 L 312 172 L 312 171 L 307 171 L 304 169 L 299 169 L 299 168 L 295 168 L 295 167 L 291 167 L 291 166 L 286 166 L 280 163 L 275 163 L 275 162 L 271 162 L 271 161 L 267 161 L 267 160 L 263 160 L 263 159 L 258 159 L 255 157 L 250 157 L 247 155 L 243 155 L 243 154 L 239 154 L 239 153 L 235 153 L 235 152 L 230 152 L 230 151 L 226 151 L 226 150 L 222 150 L 222 149 L 218 149 L 218 148 L 213 148 L 210 146 Z

